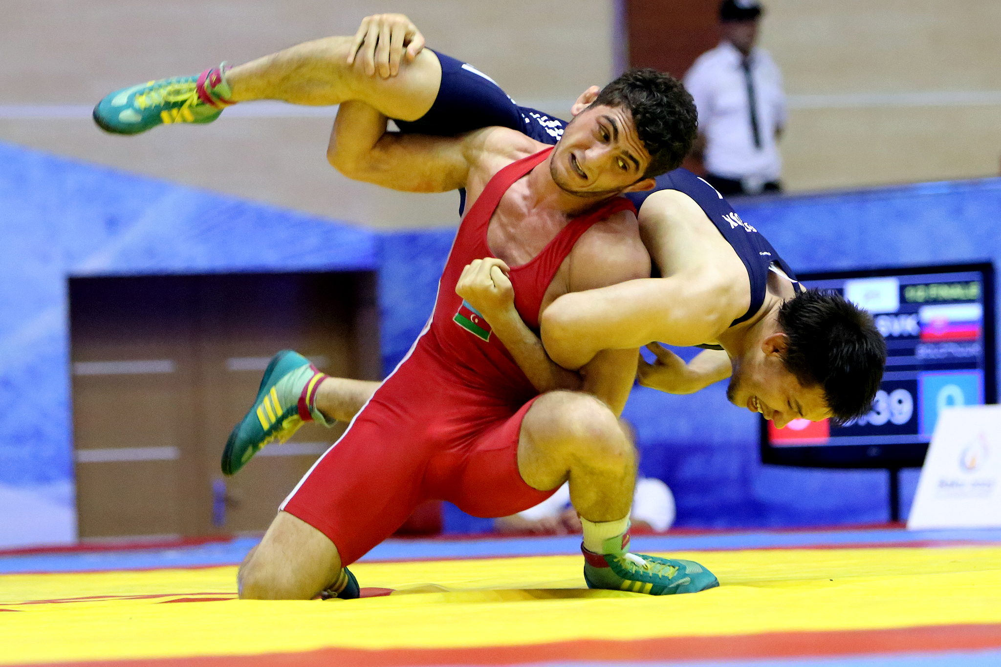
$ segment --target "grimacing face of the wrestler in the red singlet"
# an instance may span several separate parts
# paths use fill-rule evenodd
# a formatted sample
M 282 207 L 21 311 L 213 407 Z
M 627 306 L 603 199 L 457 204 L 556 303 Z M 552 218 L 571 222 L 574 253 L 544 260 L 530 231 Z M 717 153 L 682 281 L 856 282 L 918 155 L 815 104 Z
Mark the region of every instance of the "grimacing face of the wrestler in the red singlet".
M 643 180 L 648 165 L 650 153 L 629 109 L 591 106 L 567 126 L 553 151 L 550 173 L 565 192 L 607 196 Z

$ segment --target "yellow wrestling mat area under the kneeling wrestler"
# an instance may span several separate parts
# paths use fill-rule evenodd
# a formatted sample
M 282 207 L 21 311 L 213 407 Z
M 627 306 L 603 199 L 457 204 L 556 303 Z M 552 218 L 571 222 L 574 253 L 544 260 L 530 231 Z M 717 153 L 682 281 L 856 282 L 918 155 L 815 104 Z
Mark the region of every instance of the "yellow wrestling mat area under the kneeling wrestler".
M 580 556 L 356 563 L 361 600 L 241 601 L 235 567 L 0 575 L 0 664 L 1001 624 L 1001 548 L 672 553 L 721 587 L 584 588 Z

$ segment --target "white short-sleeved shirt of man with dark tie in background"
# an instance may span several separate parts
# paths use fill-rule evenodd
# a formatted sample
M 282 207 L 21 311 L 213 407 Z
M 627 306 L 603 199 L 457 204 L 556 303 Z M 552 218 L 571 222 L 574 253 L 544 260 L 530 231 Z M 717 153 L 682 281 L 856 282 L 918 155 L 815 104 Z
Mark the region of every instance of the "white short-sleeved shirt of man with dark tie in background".
M 767 51 L 751 51 L 755 111 L 761 147 L 755 146 L 743 54 L 724 40 L 699 56 L 685 75 L 685 87 L 699 110 L 699 131 L 706 135 L 704 164 L 709 173 L 757 183 L 774 181 L 782 172 L 775 132 L 786 124 L 782 73 Z

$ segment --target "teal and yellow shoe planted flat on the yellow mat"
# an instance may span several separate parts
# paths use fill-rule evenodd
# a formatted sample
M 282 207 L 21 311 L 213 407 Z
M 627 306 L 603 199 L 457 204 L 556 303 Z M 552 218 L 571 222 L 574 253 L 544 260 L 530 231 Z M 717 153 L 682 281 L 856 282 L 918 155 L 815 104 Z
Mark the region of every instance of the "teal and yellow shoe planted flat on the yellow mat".
M 629 533 L 611 537 L 604 545 L 604 554 L 581 546 L 588 588 L 675 595 L 720 585 L 716 575 L 694 561 L 629 553 Z

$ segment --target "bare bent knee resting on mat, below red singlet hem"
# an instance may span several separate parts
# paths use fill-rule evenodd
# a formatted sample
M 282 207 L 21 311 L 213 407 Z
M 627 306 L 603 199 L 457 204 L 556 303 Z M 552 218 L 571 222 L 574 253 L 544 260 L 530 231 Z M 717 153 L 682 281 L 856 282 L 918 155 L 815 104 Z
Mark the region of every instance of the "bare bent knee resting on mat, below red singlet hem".
M 337 547 L 326 535 L 278 512 L 240 565 L 237 580 L 244 599 L 308 600 L 332 584 L 339 572 Z

